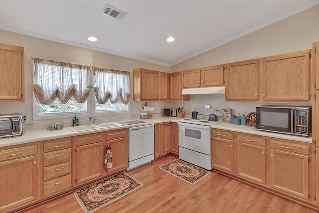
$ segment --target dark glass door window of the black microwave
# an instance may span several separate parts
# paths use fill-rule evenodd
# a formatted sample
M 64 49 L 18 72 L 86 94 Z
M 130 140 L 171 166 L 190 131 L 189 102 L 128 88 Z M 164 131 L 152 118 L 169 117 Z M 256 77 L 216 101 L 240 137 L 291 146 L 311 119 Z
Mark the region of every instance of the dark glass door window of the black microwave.
M 268 127 L 280 127 L 287 129 L 289 114 L 287 112 L 260 112 L 260 125 Z

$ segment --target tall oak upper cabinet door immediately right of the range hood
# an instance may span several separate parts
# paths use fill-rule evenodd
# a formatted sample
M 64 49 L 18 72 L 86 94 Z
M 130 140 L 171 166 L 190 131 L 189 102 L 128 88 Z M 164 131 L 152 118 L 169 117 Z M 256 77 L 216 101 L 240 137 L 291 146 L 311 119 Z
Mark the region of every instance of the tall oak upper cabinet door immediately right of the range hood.
M 258 100 L 259 60 L 226 65 L 227 100 Z

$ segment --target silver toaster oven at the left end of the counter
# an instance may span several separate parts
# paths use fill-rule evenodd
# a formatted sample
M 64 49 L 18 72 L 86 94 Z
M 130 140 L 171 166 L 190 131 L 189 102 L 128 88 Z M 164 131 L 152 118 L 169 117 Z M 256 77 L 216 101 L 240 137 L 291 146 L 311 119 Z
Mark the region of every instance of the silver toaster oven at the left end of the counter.
M 0 138 L 22 135 L 23 117 L 21 114 L 0 115 Z

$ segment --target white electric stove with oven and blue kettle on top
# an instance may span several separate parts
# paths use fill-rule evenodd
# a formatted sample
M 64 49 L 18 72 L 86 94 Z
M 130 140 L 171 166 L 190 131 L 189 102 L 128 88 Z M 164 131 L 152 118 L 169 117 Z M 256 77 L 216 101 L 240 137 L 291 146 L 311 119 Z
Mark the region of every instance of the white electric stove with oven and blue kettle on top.
M 179 159 L 211 170 L 210 125 L 222 122 L 223 110 L 204 108 L 198 111 L 198 119 L 178 121 Z M 217 121 L 208 120 L 213 112 Z

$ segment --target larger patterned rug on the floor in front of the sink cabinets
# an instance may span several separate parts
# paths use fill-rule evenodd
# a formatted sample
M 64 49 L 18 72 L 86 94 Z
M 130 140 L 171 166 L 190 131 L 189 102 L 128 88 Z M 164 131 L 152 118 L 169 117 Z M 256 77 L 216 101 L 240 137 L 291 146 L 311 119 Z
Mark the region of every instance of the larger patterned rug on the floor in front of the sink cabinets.
M 86 213 L 92 213 L 142 187 L 142 185 L 139 181 L 122 172 L 80 189 L 74 192 L 74 196 Z

